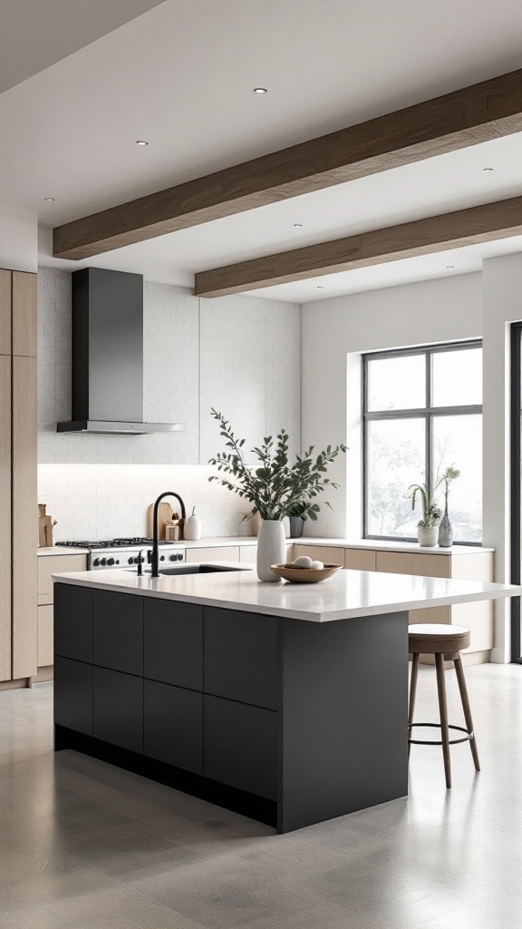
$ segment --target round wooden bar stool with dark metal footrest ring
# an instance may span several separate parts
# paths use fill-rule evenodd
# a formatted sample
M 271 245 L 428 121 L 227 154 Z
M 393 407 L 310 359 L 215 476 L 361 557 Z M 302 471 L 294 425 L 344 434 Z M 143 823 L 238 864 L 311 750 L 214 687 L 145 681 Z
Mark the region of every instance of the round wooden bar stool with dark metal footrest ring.
M 471 634 L 465 626 L 450 626 L 438 623 L 417 623 L 408 626 L 408 650 L 413 655 L 411 665 L 411 685 L 410 685 L 410 708 L 408 711 L 408 753 L 410 754 L 411 745 L 442 745 L 444 755 L 444 772 L 446 774 L 446 787 L 451 786 L 451 764 L 450 764 L 450 745 L 456 745 L 459 742 L 469 741 L 475 770 L 480 770 L 478 762 L 478 752 L 476 750 L 476 739 L 473 731 L 473 719 L 467 696 L 467 688 L 464 678 L 463 661 L 461 651 L 467 648 L 470 643 Z M 417 690 L 417 674 L 419 671 L 419 656 L 435 655 L 435 666 L 437 669 L 437 693 L 438 693 L 438 710 L 440 713 L 440 723 L 414 723 L 413 711 L 415 709 L 415 693 Z M 448 723 L 448 703 L 446 700 L 446 684 L 444 681 L 444 661 L 453 661 L 457 673 L 457 681 L 463 701 L 463 713 L 465 728 L 463 726 L 450 726 Z M 423 741 L 421 739 L 411 739 L 411 729 L 414 726 L 431 726 L 439 728 L 441 732 L 441 741 Z M 462 739 L 450 739 L 450 729 L 456 729 L 459 732 L 465 732 Z

